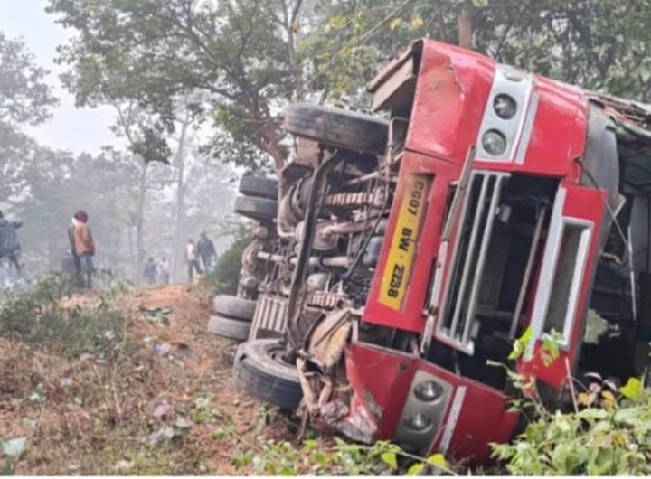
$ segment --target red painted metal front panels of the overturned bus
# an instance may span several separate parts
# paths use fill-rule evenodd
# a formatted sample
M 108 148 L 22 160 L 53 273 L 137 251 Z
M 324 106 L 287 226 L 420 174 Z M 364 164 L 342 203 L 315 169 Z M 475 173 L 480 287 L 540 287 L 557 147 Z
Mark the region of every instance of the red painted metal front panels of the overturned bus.
M 431 175 L 429 204 L 417 240 L 417 257 L 401 310 L 392 310 L 378 300 L 391 243 L 387 240 L 382 247 L 363 321 L 422 333 L 430 273 L 438 254 L 448 190 L 450 183 L 458 180 L 468 148 L 478 141 L 494 75 L 495 61 L 448 44 L 422 42 L 406 151 L 401 160 L 386 238 L 392 238 L 396 228 L 407 175 Z M 580 169 L 575 160 L 583 154 L 586 141 L 586 94 L 580 89 L 540 76 L 533 79 L 533 91 L 539 96 L 539 101 L 524 162 L 477 161 L 475 168 L 558 178 L 568 190 L 563 215 L 594 223 L 570 348 L 561 352 L 561 358 L 551 366 L 544 366 L 539 357 L 518 365 L 520 371 L 534 373 L 540 380 L 560 387 L 567 377 L 565 360 L 575 362 L 580 349 L 581 322 L 589 300 L 593 263 L 604 215 L 604 208 L 600 205 L 605 204 L 606 192 L 577 186 Z M 448 256 L 444 282 L 450 260 L 451 255 Z M 536 277 L 537 273 L 534 274 L 534 287 Z M 527 322 L 531 321 L 531 305 L 533 299 L 527 307 Z M 540 343 L 536 348 L 540 348 Z M 467 387 L 448 449 L 453 456 L 471 457 L 473 462 L 486 461 L 489 456 L 487 443 L 505 441 L 514 430 L 516 416 L 506 412 L 506 398 L 501 391 L 459 377 L 416 356 L 367 344 L 350 345 L 346 359 L 348 378 L 354 389 L 353 409 L 365 408 L 375 414 L 379 437 L 394 437 L 410 381 L 419 369 L 438 375 L 455 388 L 461 385 Z M 442 424 L 444 427 L 445 421 Z M 431 447 L 438 447 L 440 439 L 439 434 Z

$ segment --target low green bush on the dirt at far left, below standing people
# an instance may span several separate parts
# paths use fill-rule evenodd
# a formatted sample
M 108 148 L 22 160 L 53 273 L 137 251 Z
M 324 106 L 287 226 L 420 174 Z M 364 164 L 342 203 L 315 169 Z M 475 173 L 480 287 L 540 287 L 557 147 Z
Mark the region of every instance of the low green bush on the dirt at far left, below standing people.
M 20 296 L 0 305 L 0 335 L 25 343 L 40 343 L 56 352 L 114 354 L 124 339 L 124 317 L 104 296 L 90 309 L 65 307 L 69 282 L 47 277 Z

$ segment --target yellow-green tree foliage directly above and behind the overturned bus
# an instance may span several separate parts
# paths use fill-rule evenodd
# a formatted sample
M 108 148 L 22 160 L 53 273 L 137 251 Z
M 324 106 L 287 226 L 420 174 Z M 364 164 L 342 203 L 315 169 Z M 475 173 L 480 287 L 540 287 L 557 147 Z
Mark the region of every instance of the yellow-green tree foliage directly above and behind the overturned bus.
M 305 54 L 314 59 L 313 82 L 327 89 L 327 98 L 349 104 L 359 104 L 363 81 L 379 64 L 423 36 L 471 46 L 497 61 L 585 88 L 648 100 L 651 9 L 645 5 L 340 0 L 325 6 L 325 20 L 310 35 Z

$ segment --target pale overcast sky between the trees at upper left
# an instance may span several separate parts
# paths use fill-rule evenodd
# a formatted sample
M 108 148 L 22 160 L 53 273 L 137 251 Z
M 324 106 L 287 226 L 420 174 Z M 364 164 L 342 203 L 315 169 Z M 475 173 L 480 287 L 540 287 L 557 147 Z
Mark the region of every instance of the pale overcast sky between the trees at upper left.
M 56 47 L 71 35 L 54 17 L 45 13 L 47 0 L 0 0 L 0 30 L 9 38 L 22 37 L 35 60 L 50 70 L 49 83 L 60 106 L 47 123 L 27 127 L 25 132 L 44 146 L 97 153 L 103 145 L 117 144 L 109 125 L 113 122 L 110 108 L 75 108 L 74 98 L 61 88 L 59 73 L 63 68 L 54 63 Z

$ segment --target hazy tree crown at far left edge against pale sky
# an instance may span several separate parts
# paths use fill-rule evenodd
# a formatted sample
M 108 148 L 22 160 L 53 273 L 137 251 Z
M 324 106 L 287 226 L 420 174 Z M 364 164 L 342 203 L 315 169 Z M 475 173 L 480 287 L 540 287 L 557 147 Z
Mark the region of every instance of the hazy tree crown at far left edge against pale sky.
M 0 120 L 38 124 L 58 102 L 44 83 L 47 70 L 36 66 L 24 43 L 0 32 Z

